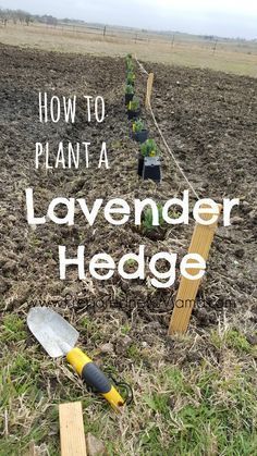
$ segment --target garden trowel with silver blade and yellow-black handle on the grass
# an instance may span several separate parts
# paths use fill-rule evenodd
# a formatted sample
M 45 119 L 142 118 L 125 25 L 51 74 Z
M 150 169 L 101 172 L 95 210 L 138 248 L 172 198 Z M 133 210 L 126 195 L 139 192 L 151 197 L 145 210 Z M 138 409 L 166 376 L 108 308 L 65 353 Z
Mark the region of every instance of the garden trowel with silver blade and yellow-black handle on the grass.
M 28 312 L 27 325 L 48 355 L 65 356 L 86 384 L 121 411 L 125 400 L 91 359 L 75 347 L 79 334 L 66 320 L 47 307 L 34 307 Z

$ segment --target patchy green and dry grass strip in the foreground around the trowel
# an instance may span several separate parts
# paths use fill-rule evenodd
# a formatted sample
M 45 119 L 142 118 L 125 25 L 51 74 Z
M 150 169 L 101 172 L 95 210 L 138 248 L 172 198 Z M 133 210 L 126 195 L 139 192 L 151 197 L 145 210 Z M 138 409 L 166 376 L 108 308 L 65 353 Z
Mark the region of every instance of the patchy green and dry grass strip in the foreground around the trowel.
M 172 349 L 157 335 L 150 346 L 142 344 L 147 332 L 138 324 L 135 330 L 123 316 L 105 322 L 84 317 L 78 330 L 95 353 L 99 340 L 122 346 L 130 333 L 132 343 L 122 354 L 99 355 L 98 361 L 133 385 L 134 404 L 118 419 L 64 360 L 45 355 L 22 318 L 5 316 L 0 337 L 1 456 L 26 455 L 30 442 L 46 446 L 51 456 L 60 454 L 58 404 L 70 400 L 82 400 L 85 432 L 105 441 L 109 455 L 255 454 L 256 355 L 240 330 L 212 331 L 204 338 L 192 332 L 173 338 Z M 185 361 L 192 350 L 199 358 Z

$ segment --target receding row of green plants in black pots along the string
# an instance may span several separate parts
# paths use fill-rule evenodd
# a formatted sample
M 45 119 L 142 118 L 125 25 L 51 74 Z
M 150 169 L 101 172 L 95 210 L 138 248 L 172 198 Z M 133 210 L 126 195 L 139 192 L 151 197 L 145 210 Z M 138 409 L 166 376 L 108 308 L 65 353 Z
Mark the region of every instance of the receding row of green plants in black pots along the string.
M 132 137 L 140 144 L 138 153 L 137 173 L 143 178 L 151 178 L 160 182 L 160 153 L 154 139 L 148 138 L 148 130 L 140 118 L 140 101 L 135 96 L 135 73 L 132 56 L 126 56 L 126 88 L 125 106 L 127 108 L 128 120 L 132 121 Z

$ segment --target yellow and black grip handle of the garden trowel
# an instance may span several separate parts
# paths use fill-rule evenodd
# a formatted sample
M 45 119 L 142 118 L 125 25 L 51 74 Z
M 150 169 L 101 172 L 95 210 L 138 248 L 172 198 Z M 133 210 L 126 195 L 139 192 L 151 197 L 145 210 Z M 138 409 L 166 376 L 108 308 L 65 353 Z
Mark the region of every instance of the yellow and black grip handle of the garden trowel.
M 75 347 L 69 352 L 66 359 L 88 386 L 100 393 L 117 411 L 121 411 L 121 407 L 125 404 L 124 399 L 87 355 Z

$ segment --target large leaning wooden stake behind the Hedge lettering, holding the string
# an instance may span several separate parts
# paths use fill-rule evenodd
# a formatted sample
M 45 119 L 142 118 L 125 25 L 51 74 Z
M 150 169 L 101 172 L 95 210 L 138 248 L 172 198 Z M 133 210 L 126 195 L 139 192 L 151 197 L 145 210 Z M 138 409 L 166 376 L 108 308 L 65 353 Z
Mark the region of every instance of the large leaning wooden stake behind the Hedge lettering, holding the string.
M 206 205 L 203 208 L 209 208 Z M 219 207 L 219 214 L 222 207 Z M 210 220 L 213 213 L 203 213 L 203 220 Z M 197 223 L 193 233 L 188 254 L 198 254 L 206 261 L 209 256 L 210 246 L 217 230 L 218 220 L 211 225 L 203 225 Z M 187 269 L 188 274 L 194 275 L 198 273 L 197 269 Z M 189 280 L 181 278 L 179 292 L 175 298 L 174 309 L 171 316 L 169 335 L 174 333 L 185 333 L 191 319 L 191 313 L 194 308 L 196 295 L 200 285 L 201 279 Z

